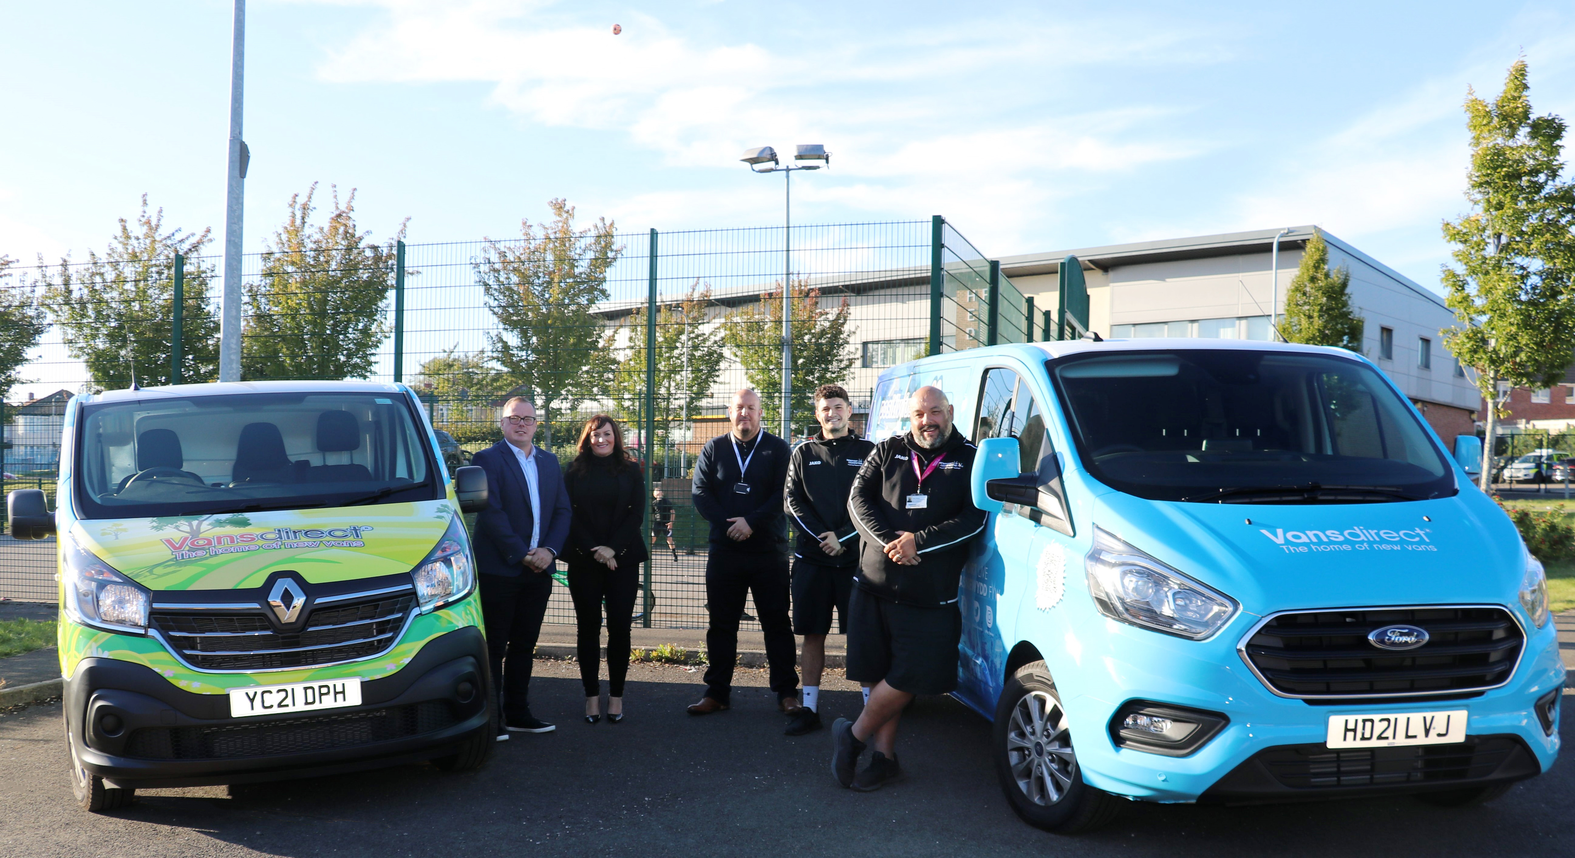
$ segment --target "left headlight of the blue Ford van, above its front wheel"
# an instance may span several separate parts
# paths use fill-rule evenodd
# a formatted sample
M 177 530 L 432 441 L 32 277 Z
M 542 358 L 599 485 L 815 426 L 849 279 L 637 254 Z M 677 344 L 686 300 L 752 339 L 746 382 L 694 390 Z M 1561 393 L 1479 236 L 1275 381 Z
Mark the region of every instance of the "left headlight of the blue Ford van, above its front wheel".
M 1202 641 L 1236 616 L 1236 600 L 1095 527 L 1088 592 L 1099 612 L 1125 623 Z

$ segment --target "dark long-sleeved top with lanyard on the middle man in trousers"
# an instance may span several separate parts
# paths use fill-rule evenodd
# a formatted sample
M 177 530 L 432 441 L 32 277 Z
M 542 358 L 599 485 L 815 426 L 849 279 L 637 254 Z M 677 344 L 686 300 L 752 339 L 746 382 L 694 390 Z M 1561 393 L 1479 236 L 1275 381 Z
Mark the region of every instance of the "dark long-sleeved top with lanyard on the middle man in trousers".
M 761 430 L 732 452 L 732 433 L 712 438 L 695 461 L 695 512 L 710 523 L 710 545 L 724 551 L 781 551 L 788 543 L 788 520 L 783 516 L 783 485 L 788 482 L 788 442 Z M 754 458 L 750 458 L 754 450 Z M 739 474 L 739 458 L 750 463 Z M 747 485 L 748 491 L 737 491 Z M 743 516 L 754 531 L 743 542 L 728 538 L 729 518 Z

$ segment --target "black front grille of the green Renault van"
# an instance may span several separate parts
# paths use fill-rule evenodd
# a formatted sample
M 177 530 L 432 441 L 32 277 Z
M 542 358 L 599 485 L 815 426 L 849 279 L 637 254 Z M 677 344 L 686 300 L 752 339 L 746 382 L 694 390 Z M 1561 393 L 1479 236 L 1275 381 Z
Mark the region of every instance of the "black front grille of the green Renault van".
M 354 661 L 392 647 L 416 606 L 410 590 L 335 598 L 299 631 L 279 631 L 257 609 L 154 609 L 150 625 L 198 671 L 285 671 Z

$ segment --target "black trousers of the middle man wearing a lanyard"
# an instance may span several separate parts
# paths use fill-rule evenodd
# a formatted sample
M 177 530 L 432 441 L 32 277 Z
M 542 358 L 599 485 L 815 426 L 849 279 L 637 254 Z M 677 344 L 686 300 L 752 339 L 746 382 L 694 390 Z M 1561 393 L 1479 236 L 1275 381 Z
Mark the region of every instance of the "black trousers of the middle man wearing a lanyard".
M 776 551 L 758 554 L 710 546 L 706 557 L 706 603 L 710 628 L 706 630 L 706 696 L 731 704 L 732 668 L 739 660 L 739 616 L 745 598 L 754 594 L 754 611 L 765 633 L 765 661 L 770 664 L 776 699 L 799 690 L 797 644 L 788 619 L 788 556 Z

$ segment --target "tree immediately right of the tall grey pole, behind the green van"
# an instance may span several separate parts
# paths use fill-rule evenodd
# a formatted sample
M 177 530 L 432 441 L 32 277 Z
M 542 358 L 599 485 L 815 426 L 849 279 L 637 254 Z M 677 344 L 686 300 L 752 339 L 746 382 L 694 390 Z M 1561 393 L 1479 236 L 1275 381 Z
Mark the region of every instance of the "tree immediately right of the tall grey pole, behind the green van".
M 370 241 L 356 225 L 356 190 L 340 205 L 335 187 L 328 222 L 313 225 L 315 194 L 312 183 L 304 198 L 290 197 L 290 214 L 263 250 L 261 276 L 246 285 L 247 379 L 365 378 L 392 332 L 386 299 L 405 224 L 394 239 Z

